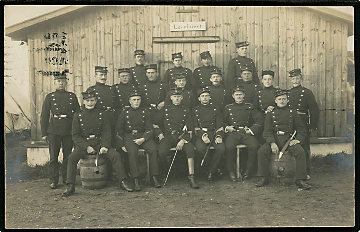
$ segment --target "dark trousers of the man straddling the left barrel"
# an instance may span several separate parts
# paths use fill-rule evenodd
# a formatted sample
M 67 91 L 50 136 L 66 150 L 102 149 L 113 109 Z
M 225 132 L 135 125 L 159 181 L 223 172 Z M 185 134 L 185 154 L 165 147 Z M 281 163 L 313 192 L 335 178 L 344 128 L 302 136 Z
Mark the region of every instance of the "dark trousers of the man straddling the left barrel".
M 99 145 L 93 147 L 95 150 L 99 149 Z M 75 147 L 74 151 L 70 154 L 67 162 L 67 180 L 66 183 L 75 184 L 76 181 L 76 171 L 77 163 L 81 158 L 84 158 L 87 155 L 87 152 L 80 147 Z M 108 148 L 106 154 L 101 156 L 109 159 L 112 163 L 112 169 L 115 170 L 118 180 L 121 182 L 123 179 L 126 179 L 127 176 L 124 171 L 123 163 L 120 157 L 120 154 L 117 153 L 113 148 Z

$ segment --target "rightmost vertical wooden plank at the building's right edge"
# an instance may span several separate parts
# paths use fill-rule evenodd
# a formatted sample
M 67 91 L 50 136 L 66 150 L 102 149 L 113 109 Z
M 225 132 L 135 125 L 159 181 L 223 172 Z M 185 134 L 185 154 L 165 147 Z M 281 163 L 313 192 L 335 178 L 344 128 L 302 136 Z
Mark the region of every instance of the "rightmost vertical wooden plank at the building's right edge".
M 347 132 L 347 23 L 341 23 L 341 126 L 340 136 L 346 136 Z M 351 106 L 353 107 L 353 106 Z M 353 126 L 353 125 L 352 125 Z M 353 129 L 353 128 L 352 128 Z

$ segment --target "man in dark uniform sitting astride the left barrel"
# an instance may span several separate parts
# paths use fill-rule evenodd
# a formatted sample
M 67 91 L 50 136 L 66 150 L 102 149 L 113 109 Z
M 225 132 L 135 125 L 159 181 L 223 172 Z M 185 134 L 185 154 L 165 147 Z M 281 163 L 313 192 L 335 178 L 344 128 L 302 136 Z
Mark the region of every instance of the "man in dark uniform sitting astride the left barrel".
M 127 176 L 124 171 L 120 154 L 111 147 L 111 130 L 107 114 L 96 109 L 97 96 L 95 91 L 82 92 L 84 107 L 74 114 L 72 122 L 72 138 L 75 149 L 70 154 L 67 165 L 67 189 L 62 196 L 69 196 L 75 192 L 77 163 L 88 154 L 103 155 L 112 163 L 120 187 L 127 191 L 133 189 L 127 184 Z

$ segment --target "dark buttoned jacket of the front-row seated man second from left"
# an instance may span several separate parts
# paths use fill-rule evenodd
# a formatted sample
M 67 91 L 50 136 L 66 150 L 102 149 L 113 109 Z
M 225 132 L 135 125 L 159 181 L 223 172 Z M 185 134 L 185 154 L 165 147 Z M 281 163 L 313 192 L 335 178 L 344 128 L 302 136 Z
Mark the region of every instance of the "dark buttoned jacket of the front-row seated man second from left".
M 132 134 L 133 139 L 145 138 L 148 140 L 152 137 L 152 121 L 150 112 L 139 107 L 134 109 L 126 106 L 117 119 L 116 139 L 120 147 L 124 146 L 124 134 Z

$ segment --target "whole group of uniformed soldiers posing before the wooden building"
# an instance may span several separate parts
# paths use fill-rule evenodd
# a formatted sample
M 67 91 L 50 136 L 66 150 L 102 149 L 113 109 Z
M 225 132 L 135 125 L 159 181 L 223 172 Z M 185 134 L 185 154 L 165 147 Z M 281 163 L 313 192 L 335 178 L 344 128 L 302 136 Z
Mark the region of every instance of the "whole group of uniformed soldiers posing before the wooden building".
M 54 76 L 56 91 L 46 96 L 41 112 L 42 138 L 49 142 L 50 187 L 57 188 L 62 145 L 62 180 L 67 186 L 62 196 L 75 192 L 77 162 L 97 153 L 111 161 L 121 188 L 140 191 L 139 149 L 150 157 L 153 186 L 161 187 L 160 178 L 165 181 L 172 166 L 167 160 L 172 147 L 186 155 L 192 188 L 199 188 L 195 169 L 200 162 L 212 182 L 224 159 L 232 182 L 256 175 L 257 169 L 256 186 L 265 186 L 269 155 L 284 148 L 296 159 L 297 186 L 309 189 L 309 135 L 319 115 L 314 95 L 301 85 L 301 69 L 289 72 L 290 90 L 274 87 L 274 71 L 263 70 L 261 87 L 254 61 L 246 57 L 247 46 L 246 41 L 236 43 L 238 56 L 230 60 L 225 79 L 221 69 L 211 65 L 209 51 L 200 54 L 202 66 L 193 72 L 182 66 L 181 52 L 172 54 L 174 67 L 160 79 L 157 65 L 145 66 L 145 52 L 136 50 L 136 65 L 118 69 L 118 84 L 106 85 L 107 67 L 95 67 L 96 83 L 81 93 L 81 109 L 76 95 L 65 90 L 66 74 Z M 238 144 L 247 146 L 247 152 L 241 152 L 240 179 L 234 173 Z

